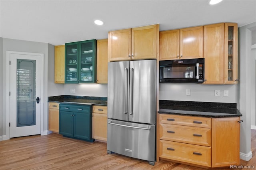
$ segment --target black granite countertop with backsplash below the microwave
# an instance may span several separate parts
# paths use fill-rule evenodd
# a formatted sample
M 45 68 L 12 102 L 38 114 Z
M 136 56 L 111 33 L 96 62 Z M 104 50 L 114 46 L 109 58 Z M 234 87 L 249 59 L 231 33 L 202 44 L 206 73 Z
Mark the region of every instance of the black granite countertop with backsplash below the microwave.
M 188 115 L 200 117 L 240 117 L 236 103 L 192 102 L 192 101 L 159 101 L 160 114 Z

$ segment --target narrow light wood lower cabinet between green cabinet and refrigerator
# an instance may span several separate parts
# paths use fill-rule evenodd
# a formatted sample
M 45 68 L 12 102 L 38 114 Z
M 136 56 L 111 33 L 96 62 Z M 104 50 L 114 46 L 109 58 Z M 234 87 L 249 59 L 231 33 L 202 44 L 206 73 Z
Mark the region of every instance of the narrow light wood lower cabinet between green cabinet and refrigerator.
M 92 106 L 92 138 L 100 142 L 107 142 L 108 107 Z

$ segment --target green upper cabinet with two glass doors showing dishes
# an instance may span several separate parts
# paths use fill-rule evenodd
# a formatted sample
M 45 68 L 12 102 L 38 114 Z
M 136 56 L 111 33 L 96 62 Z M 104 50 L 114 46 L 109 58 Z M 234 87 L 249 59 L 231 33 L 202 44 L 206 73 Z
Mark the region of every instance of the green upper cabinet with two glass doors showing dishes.
M 65 43 L 65 83 L 96 83 L 96 40 Z

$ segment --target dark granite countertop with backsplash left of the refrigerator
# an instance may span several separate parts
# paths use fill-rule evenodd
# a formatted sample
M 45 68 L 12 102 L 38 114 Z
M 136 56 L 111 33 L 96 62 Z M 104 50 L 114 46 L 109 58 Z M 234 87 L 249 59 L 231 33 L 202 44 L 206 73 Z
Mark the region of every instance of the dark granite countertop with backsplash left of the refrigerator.
M 48 97 L 48 102 L 56 103 L 70 103 L 70 104 L 83 104 L 83 105 L 102 105 L 107 106 L 107 97 L 93 97 L 93 96 L 52 96 Z

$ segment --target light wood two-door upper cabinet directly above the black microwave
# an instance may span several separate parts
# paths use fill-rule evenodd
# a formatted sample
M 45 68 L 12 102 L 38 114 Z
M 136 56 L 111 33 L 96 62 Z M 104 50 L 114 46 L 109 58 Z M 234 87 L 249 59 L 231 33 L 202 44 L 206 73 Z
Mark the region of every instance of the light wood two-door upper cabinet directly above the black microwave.
M 203 27 L 161 31 L 159 59 L 192 59 L 203 57 Z

